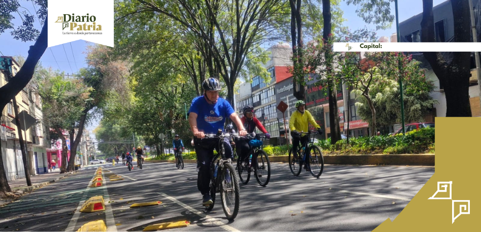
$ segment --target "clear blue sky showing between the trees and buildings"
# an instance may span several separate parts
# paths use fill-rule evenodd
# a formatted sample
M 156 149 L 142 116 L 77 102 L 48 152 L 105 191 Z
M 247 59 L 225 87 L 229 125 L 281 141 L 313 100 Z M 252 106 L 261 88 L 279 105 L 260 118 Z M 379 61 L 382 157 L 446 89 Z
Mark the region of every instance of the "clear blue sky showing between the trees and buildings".
M 434 0 L 433 4 L 434 6 L 436 6 L 443 2 L 445 2 L 445 0 Z M 32 2 L 20 0 L 20 3 L 22 7 L 27 8 L 32 13 L 34 12 Z M 398 4 L 399 22 L 402 22 L 412 16 L 422 13 L 422 0 L 399 0 Z M 347 25 L 352 30 L 364 28 L 365 26 L 367 26 L 369 29 L 376 28 L 374 25 L 366 25 L 361 18 L 357 17 L 357 14 L 355 13 L 355 6 L 347 6 L 347 4 L 343 1 L 341 3 L 341 9 L 344 11 L 344 18 L 347 19 L 345 25 Z M 391 9 L 392 14 L 394 14 L 394 3 L 391 4 Z M 16 26 L 18 26 L 21 24 L 20 17 L 15 17 L 16 19 L 14 23 Z M 38 30 L 42 29 L 38 21 L 34 23 L 34 26 Z M 0 35 L 0 55 L 22 55 L 26 57 L 28 55 L 29 46 L 33 45 L 34 42 L 22 42 L 19 40 L 15 40 L 10 35 L 10 31 L 11 30 L 7 30 Z M 396 26 L 394 22 L 390 29 L 379 30 L 377 34 L 379 37 L 383 35 L 389 37 L 395 31 Z M 55 47 L 47 48 L 40 61 L 42 62 L 43 66 L 51 66 L 54 69 L 59 69 L 69 74 L 75 73 L 78 71 L 78 69 L 87 66 L 87 64 L 85 63 L 84 54 L 87 44 L 87 41 L 77 40 L 70 43 L 65 43 L 63 45 L 57 45 Z M 98 123 L 94 122 L 95 126 L 96 124 Z M 88 129 L 92 130 L 93 128 L 95 128 L 95 126 L 88 126 Z

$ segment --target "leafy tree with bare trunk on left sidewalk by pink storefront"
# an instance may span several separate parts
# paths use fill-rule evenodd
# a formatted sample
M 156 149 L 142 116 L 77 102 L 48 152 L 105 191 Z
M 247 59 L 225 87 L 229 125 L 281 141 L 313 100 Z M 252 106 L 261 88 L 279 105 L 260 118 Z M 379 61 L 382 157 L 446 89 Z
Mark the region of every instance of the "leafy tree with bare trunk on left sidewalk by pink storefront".
M 38 94 L 42 97 L 44 121 L 62 140 L 62 164 L 60 173 L 67 170 L 67 143 L 65 133 L 74 129 L 75 122 L 84 115 L 86 102 L 91 90 L 79 79 L 64 79 L 63 74 L 41 80 Z M 71 140 L 72 141 L 72 140 Z M 70 160 L 72 146 L 70 146 Z M 75 148 L 76 149 L 76 148 Z

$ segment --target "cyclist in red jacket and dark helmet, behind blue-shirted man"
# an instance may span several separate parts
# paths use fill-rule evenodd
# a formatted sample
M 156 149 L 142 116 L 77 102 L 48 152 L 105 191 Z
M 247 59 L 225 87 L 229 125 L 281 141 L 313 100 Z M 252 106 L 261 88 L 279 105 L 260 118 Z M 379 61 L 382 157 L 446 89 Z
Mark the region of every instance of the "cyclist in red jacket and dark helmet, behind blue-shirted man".
M 247 105 L 244 106 L 242 111 L 244 113 L 244 117 L 240 118 L 240 121 L 244 125 L 244 128 L 246 128 L 247 133 L 251 134 L 256 130 L 257 127 L 260 131 L 265 133 L 266 138 L 270 138 L 270 134 L 264 128 L 262 123 L 256 117 L 254 117 L 254 107 Z M 239 155 L 239 159 L 241 160 L 244 160 L 249 155 L 247 153 L 251 148 L 248 142 L 249 141 L 243 137 L 240 137 L 235 141 L 235 151 L 237 152 L 237 154 Z

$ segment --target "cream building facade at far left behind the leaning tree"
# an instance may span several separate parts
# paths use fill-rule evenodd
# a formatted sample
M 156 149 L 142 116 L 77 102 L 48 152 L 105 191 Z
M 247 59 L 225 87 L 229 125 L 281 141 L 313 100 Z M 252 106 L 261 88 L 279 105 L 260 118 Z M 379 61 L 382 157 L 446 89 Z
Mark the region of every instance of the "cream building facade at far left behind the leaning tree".
M 13 60 L 12 78 L 15 78 L 20 65 L 12 57 L 0 57 L 0 59 L 4 58 Z M 0 86 L 4 86 L 8 81 L 7 75 L 3 71 L 0 72 Z M 29 83 L 15 97 L 21 124 L 20 132 L 26 145 L 21 145 L 19 142 L 13 101 L 2 109 L 0 143 L 2 143 L 2 159 L 8 180 L 25 178 L 20 146 L 26 146 L 27 165 L 32 175 L 47 173 L 49 170 L 47 149 L 50 146 L 50 136 L 48 128 L 42 122 L 42 101 L 37 92 L 37 86 Z

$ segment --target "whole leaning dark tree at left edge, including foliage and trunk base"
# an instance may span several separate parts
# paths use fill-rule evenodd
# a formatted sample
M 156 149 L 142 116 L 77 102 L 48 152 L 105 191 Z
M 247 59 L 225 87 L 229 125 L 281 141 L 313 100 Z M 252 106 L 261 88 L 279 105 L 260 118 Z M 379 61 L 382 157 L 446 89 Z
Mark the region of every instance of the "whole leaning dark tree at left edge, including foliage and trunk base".
M 4 1 L 2 7 L 0 7 L 0 34 L 5 32 L 6 29 L 14 28 L 11 20 L 15 18 L 14 14 L 19 14 L 20 17 L 23 15 L 25 18 L 22 18 L 23 25 L 12 31 L 14 38 L 22 41 L 32 41 L 36 38 L 34 45 L 28 50 L 28 57 L 24 65 L 17 72 L 15 78 L 0 87 L 0 109 L 5 108 L 7 103 L 27 85 L 33 76 L 35 65 L 47 49 L 47 1 L 34 0 L 34 2 L 39 6 L 36 12 L 37 17 L 44 21 L 44 26 L 39 34 L 38 30 L 33 28 L 34 17 L 26 12 L 19 13 L 20 3 L 18 0 Z M 2 150 L 0 149 L 0 195 L 6 195 L 7 192 L 10 192 L 10 187 L 5 174 Z

